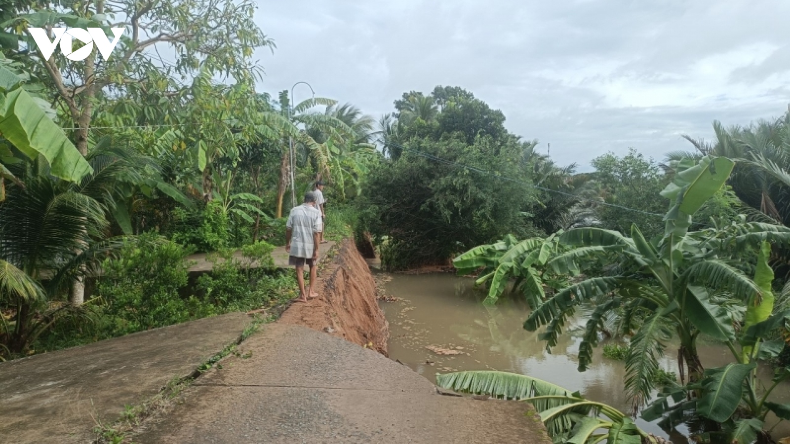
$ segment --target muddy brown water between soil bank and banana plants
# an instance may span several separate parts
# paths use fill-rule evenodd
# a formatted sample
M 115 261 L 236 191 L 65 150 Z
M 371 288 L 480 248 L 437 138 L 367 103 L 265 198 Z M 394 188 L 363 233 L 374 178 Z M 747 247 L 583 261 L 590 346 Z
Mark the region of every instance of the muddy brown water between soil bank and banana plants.
M 435 374 L 465 370 L 498 370 L 529 374 L 566 389 L 579 390 L 594 401 L 605 402 L 630 412 L 623 389 L 623 362 L 602 356 L 596 348 L 592 366 L 578 372 L 577 352 L 581 341 L 572 333 L 563 334 L 557 347 L 546 351 L 537 333 L 523 329 L 529 307 L 525 302 L 503 298 L 495 307 L 483 306 L 484 293 L 474 288 L 474 280 L 452 274 L 392 275 L 386 294 L 399 299 L 382 302 L 389 321 L 389 357 L 397 359 L 432 382 Z M 569 326 L 585 321 L 583 310 Z M 453 353 L 453 354 L 447 354 Z M 724 345 L 700 345 L 702 363 L 717 367 L 728 363 Z M 675 355 L 668 349 L 668 355 Z M 664 356 L 662 367 L 677 372 L 677 363 Z M 770 378 L 769 369 L 765 369 Z M 778 387 L 777 401 L 790 401 L 790 385 Z M 639 427 L 672 442 L 689 442 L 689 427 L 681 425 L 670 435 L 656 424 L 637 420 Z M 790 424 L 781 423 L 773 436 L 790 435 Z

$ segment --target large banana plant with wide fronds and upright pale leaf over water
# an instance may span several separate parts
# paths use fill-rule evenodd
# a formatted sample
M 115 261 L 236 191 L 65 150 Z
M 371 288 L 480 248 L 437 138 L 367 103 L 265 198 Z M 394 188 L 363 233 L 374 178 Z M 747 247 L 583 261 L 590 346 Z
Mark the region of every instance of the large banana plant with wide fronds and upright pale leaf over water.
M 682 380 L 699 381 L 702 363 L 697 352 L 701 334 L 718 341 L 734 340 L 733 312 L 747 301 L 762 296 L 762 289 L 737 268 L 739 258 L 754 251 L 764 240 L 790 244 L 790 228 L 747 223 L 740 219 L 726 228 L 688 231 L 692 216 L 724 185 L 733 162 L 724 157 L 705 156 L 698 163 L 682 160 L 672 164 L 675 179 L 661 195 L 670 200 L 664 216 L 665 231 L 649 241 L 635 225 L 630 237 L 602 228 L 574 228 L 555 234 L 553 254 L 530 254 L 535 260 L 513 262 L 506 257 L 517 242 L 477 246 L 457 258 L 461 273 L 483 269 L 480 281 L 491 280 L 489 298 L 502 292 L 510 277 L 525 279 L 548 270 L 557 276 L 575 276 L 592 262 L 617 263 L 616 273 L 593 273 L 574 284 L 564 284 L 559 292 L 545 295 L 535 285 L 521 285 L 536 308 L 525 321 L 525 329 L 544 327 L 540 338 L 547 348 L 557 344 L 568 317 L 582 303 L 593 303 L 579 345 L 579 371 L 592 361 L 604 319 L 619 318 L 619 333 L 631 336 L 626 358 L 626 389 L 635 405 L 645 404 L 652 393 L 658 359 L 669 341 L 679 338 L 679 367 Z M 521 248 L 534 249 L 536 244 Z M 516 250 L 514 250 L 516 251 Z M 540 250 L 543 252 L 543 248 Z M 510 255 L 509 255 L 510 256 Z M 531 265 L 537 273 L 529 271 Z M 527 269 L 527 274 L 516 272 Z M 515 270 L 515 271 L 512 271 Z M 518 281 L 517 281 L 518 283 Z

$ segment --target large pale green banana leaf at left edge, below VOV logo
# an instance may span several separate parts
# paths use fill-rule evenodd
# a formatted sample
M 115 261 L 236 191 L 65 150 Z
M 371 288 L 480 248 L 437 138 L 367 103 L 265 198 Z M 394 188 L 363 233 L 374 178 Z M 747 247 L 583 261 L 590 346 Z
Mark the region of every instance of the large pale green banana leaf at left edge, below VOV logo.
M 0 133 L 30 159 L 44 156 L 51 174 L 77 182 L 92 172 L 63 130 L 47 118 L 36 101 L 22 88 L 0 96 Z

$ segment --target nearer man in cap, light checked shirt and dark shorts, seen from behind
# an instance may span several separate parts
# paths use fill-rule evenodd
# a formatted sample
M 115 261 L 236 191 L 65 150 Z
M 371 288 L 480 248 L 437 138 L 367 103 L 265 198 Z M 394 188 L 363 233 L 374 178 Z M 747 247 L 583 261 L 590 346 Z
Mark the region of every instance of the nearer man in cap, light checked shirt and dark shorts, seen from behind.
M 314 208 L 315 194 L 304 195 L 304 203 L 291 210 L 288 223 L 285 224 L 285 250 L 288 251 L 288 265 L 296 267 L 296 280 L 299 282 L 299 299 L 296 302 L 307 302 L 318 296 L 314 291 L 318 280 L 318 270 L 315 265 L 318 260 L 319 237 L 324 230 L 321 213 Z M 310 267 L 310 286 L 305 291 L 304 265 Z

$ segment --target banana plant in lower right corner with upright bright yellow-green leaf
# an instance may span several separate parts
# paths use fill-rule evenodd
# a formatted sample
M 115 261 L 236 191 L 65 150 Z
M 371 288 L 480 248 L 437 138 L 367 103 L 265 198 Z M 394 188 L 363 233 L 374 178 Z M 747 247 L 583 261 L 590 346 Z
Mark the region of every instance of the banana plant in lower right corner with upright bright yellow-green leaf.
M 790 380 L 790 367 L 777 368 L 769 386 L 761 387 L 757 375 L 758 363 L 776 358 L 784 348 L 784 341 L 767 340 L 769 333 L 777 329 L 786 331 L 790 326 L 790 310 L 774 310 L 770 253 L 770 244 L 763 242 L 754 273 L 754 282 L 762 293 L 748 301 L 746 312 L 739 319 L 743 325 L 740 332 L 727 342 L 733 362 L 705 369 L 699 382 L 664 387 L 660 396 L 642 412 L 644 420 L 663 417 L 663 425 L 672 427 L 691 412 L 720 423 L 722 431 L 718 435 L 736 444 L 770 442 L 763 431 L 769 413 L 780 420 L 790 420 L 790 403 L 771 401 L 774 389 Z M 692 392 L 700 396 L 691 397 Z

